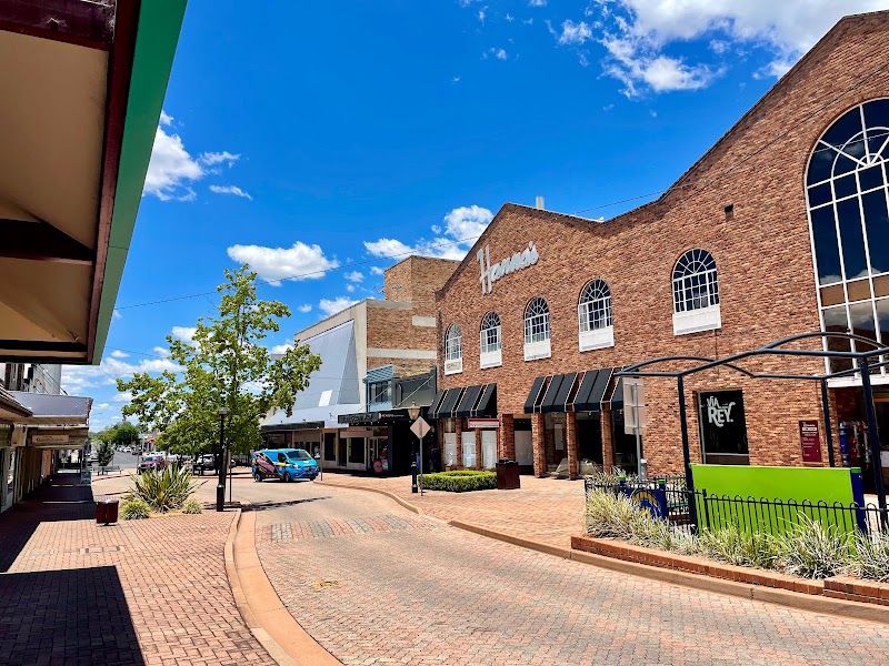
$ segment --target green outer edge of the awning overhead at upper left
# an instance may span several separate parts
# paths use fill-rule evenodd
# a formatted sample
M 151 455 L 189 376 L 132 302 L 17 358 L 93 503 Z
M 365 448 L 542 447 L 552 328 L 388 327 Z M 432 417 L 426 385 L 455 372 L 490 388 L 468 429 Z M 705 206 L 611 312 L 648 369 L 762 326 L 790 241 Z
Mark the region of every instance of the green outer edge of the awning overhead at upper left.
M 92 363 L 102 360 L 188 0 L 142 2 Z

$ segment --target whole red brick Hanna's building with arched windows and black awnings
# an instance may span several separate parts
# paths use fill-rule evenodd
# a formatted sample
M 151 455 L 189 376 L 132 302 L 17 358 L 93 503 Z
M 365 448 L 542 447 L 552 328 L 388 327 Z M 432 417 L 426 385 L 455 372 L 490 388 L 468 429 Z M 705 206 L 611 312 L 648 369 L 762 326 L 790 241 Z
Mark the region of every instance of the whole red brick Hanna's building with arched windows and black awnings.
M 841 20 L 652 203 L 606 222 L 503 205 L 438 293 L 444 391 L 430 412 L 444 463 L 635 468 L 616 369 L 822 329 L 889 345 L 887 39 L 889 12 Z M 811 357 L 747 366 L 825 372 Z M 858 386 L 851 376 L 829 391 L 836 448 L 839 423 L 851 424 L 848 464 L 868 462 L 852 437 Z M 645 390 L 642 455 L 653 473 L 680 472 L 676 382 Z M 828 460 L 817 382 L 720 367 L 687 381 L 686 396 L 692 462 L 803 464 L 802 420 L 819 422 Z M 889 393 L 877 400 L 889 432 Z

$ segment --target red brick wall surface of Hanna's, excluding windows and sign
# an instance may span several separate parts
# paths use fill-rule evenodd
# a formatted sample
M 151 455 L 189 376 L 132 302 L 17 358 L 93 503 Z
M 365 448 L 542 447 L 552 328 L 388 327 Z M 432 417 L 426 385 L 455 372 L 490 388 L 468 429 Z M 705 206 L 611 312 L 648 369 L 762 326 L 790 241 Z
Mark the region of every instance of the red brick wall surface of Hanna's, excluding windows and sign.
M 500 414 L 520 414 L 539 375 L 615 367 L 662 355 L 720 357 L 818 330 L 805 171 L 815 142 L 836 118 L 865 100 L 889 97 L 887 70 L 830 103 L 861 82 L 862 62 L 871 71 L 889 60 L 887 32 L 889 22 L 882 14 L 843 22 L 652 204 L 605 224 L 505 205 L 439 293 L 440 359 L 443 330 L 456 322 L 463 332 L 463 372 L 440 374 L 440 386 L 496 382 Z M 807 120 L 811 114 L 813 120 Z M 731 215 L 723 210 L 728 204 L 735 206 Z M 495 262 L 521 251 L 529 241 L 537 246 L 538 263 L 503 276 L 492 293 L 482 295 L 476 252 L 490 246 Z M 693 248 L 708 250 L 717 262 L 722 326 L 676 336 L 671 273 L 677 259 Z M 581 353 L 578 296 L 595 278 L 611 289 L 616 345 Z M 552 357 L 525 362 L 523 310 L 535 296 L 549 303 Z M 478 332 L 488 311 L 500 315 L 503 364 L 482 371 Z M 821 361 L 801 357 L 750 359 L 741 365 L 755 371 L 823 371 Z M 801 464 L 798 421 L 821 417 L 818 383 L 748 380 L 726 367 L 686 382 L 692 460 L 700 460 L 695 392 L 722 389 L 745 392 L 751 464 Z M 679 472 L 676 382 L 646 380 L 646 391 L 651 425 L 643 447 L 649 468 Z M 607 433 L 603 442 L 608 448 Z

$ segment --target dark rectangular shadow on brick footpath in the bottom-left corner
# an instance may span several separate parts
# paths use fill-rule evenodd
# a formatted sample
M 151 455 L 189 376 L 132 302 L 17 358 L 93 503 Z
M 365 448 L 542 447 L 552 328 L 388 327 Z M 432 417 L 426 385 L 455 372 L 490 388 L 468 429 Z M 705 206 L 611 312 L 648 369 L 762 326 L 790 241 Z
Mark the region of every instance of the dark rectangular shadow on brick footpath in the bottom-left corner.
M 0 663 L 144 664 L 113 566 L 0 575 Z

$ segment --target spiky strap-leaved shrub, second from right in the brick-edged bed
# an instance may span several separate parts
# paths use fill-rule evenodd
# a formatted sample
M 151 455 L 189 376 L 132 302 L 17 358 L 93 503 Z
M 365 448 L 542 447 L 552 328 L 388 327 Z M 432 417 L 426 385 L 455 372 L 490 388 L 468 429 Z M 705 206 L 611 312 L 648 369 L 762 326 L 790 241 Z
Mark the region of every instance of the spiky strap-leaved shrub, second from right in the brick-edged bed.
M 852 564 L 853 537 L 836 525 L 825 527 L 806 514 L 779 538 L 785 571 L 802 578 L 829 578 Z

